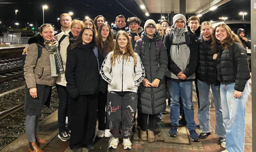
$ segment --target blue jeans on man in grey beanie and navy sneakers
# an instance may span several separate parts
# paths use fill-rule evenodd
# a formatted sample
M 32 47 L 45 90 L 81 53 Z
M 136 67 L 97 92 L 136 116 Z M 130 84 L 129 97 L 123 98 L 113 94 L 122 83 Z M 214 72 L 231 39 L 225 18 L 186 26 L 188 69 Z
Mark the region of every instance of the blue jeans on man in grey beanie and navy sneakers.
M 169 93 L 171 97 L 171 125 L 177 124 L 180 118 L 180 96 L 183 103 L 184 115 L 187 122 L 188 130 L 196 128 L 194 121 L 194 108 L 192 104 L 192 82 L 174 82 L 170 78 L 168 79 Z

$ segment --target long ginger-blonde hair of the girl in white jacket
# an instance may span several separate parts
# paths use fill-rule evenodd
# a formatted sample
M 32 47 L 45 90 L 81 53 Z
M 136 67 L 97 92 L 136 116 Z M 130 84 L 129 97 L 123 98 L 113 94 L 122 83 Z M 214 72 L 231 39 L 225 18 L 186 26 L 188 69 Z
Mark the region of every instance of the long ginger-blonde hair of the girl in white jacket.
M 120 48 L 119 48 L 119 45 L 118 45 L 118 43 L 117 43 L 117 39 L 118 39 L 118 37 L 119 37 L 120 35 L 124 35 L 124 36 L 126 37 L 127 41 L 128 41 L 128 43 L 127 43 L 127 45 L 126 45 L 126 48 L 125 48 L 125 53 L 124 53 L 124 54 L 123 54 L 123 52 L 121 52 L 121 50 L 120 50 Z M 120 62 L 120 57 L 122 57 L 122 56 L 124 56 L 125 62 L 126 62 L 127 60 L 130 61 L 130 56 L 132 56 L 133 59 L 134 59 L 134 65 L 136 65 L 136 63 L 137 63 L 137 62 L 136 62 L 136 56 L 135 56 L 135 54 L 134 54 L 134 52 L 133 52 L 132 43 L 131 43 L 131 41 L 129 40 L 129 35 L 128 35 L 125 31 L 120 30 L 120 31 L 117 32 L 117 35 L 116 35 L 116 45 L 115 45 L 115 47 L 114 47 L 114 53 L 113 53 L 113 55 L 112 55 L 111 58 L 110 58 L 112 65 L 115 66 L 115 61 L 116 61 L 116 60 L 117 60 L 117 62 L 119 63 L 119 62 Z

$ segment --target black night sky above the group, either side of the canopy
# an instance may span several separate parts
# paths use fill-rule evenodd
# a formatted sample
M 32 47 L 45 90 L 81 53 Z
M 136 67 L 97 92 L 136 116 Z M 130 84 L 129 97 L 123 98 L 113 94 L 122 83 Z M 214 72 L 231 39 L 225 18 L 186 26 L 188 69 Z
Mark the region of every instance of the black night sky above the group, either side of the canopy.
M 119 3 L 120 4 L 119 4 Z M 15 27 L 25 28 L 25 24 L 33 24 L 34 27 L 39 27 L 43 23 L 42 5 L 47 4 L 48 9 L 44 10 L 44 23 L 52 23 L 55 27 L 60 27 L 60 21 L 57 18 L 62 13 L 72 11 L 72 19 L 79 18 L 83 20 L 85 16 L 94 19 L 97 15 L 102 15 L 108 21 L 108 24 L 114 23 L 115 18 L 119 14 L 123 14 L 125 18 L 136 15 L 142 20 L 141 25 L 144 25 L 147 19 L 154 19 L 156 22 L 160 19 L 160 14 L 150 14 L 145 16 L 134 0 L 0 0 L 0 28 Z M 122 6 L 123 5 L 123 6 Z M 15 10 L 17 12 L 17 20 Z M 219 20 L 219 17 L 228 17 L 228 20 L 242 19 L 238 13 L 240 11 L 247 12 L 244 16 L 245 20 L 250 20 L 250 0 L 232 0 L 215 11 L 210 11 L 200 17 L 200 21 Z M 133 14 L 134 15 L 133 15 Z M 14 25 L 18 22 L 20 25 Z M 37 23 L 37 24 L 36 24 Z M 128 24 L 127 24 L 128 26 Z

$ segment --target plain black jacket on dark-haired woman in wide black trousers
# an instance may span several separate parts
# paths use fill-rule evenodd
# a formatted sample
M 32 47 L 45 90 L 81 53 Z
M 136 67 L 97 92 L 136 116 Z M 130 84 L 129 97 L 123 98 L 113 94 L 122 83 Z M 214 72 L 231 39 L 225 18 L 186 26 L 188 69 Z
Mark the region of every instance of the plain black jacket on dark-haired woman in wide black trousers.
M 81 44 L 68 51 L 65 77 L 67 90 L 72 98 L 100 91 L 100 73 L 98 62 L 93 53 L 95 44 Z M 101 66 L 103 59 L 98 50 Z

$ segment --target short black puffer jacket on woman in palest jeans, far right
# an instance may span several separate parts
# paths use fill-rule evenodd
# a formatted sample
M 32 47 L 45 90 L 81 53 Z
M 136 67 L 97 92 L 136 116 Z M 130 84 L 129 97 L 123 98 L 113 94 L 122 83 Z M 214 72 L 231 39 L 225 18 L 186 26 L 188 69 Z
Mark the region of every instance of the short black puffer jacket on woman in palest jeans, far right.
M 234 89 L 244 91 L 245 83 L 251 77 L 244 47 L 234 42 L 228 50 L 221 47 L 217 50 L 217 79 L 224 84 L 236 83 Z

